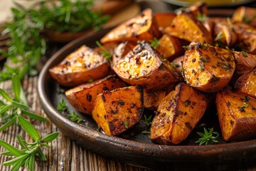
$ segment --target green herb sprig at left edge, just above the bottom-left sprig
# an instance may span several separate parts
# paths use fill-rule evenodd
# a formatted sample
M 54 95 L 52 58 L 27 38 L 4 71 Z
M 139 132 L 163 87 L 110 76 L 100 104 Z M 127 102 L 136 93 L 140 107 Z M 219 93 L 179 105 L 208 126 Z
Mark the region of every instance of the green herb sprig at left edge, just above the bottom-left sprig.
M 46 118 L 36 115 L 36 113 L 29 110 L 26 96 L 21 86 L 21 81 L 16 74 L 12 76 L 12 90 L 14 91 L 14 98 L 11 98 L 8 93 L 0 88 L 0 95 L 6 101 L 4 102 L 0 100 L 0 123 L 4 123 L 0 126 L 0 131 L 8 128 L 14 123 L 17 123 L 19 115 L 26 115 L 29 118 L 47 121 Z

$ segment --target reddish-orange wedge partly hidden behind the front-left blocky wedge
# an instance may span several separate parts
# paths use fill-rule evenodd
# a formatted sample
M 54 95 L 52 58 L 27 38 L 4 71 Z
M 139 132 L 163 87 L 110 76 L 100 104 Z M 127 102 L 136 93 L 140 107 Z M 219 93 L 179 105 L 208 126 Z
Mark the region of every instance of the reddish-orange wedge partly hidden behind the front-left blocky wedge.
M 76 110 L 91 115 L 98 94 L 104 90 L 114 90 L 125 86 L 127 86 L 126 83 L 117 76 L 107 76 L 92 83 L 71 88 L 65 92 L 65 95 Z

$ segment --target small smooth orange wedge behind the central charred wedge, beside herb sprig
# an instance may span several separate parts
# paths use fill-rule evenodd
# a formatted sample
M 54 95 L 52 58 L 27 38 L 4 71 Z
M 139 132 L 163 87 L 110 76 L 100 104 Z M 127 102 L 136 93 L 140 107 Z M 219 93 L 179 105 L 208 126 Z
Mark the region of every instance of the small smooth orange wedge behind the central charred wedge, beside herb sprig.
M 164 34 L 159 38 L 159 46 L 156 46 L 156 51 L 161 53 L 164 58 L 172 61 L 176 56 L 181 55 L 183 49 L 178 38 Z

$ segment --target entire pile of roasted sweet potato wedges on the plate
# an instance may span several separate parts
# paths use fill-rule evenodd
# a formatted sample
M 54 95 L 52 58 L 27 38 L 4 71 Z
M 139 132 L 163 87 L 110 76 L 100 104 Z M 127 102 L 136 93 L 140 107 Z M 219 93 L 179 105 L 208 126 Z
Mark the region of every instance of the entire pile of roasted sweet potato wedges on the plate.
M 255 137 L 256 9 L 241 6 L 230 18 L 208 16 L 203 3 L 176 13 L 145 9 L 99 41 L 49 72 L 105 134 L 132 128 L 146 108 L 155 113 L 151 141 L 181 143 L 211 96 L 225 141 Z

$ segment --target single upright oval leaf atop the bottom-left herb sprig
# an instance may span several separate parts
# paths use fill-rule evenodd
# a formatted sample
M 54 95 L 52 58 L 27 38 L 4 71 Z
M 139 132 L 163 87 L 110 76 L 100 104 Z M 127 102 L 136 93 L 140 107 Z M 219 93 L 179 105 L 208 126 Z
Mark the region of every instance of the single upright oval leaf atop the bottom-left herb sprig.
M 31 138 L 36 141 L 40 139 L 38 131 L 36 130 L 36 128 L 33 127 L 33 125 L 31 125 L 30 122 L 28 122 L 28 120 L 19 115 L 18 123 L 20 123 L 21 127 L 26 131 L 26 133 L 28 133 L 28 135 L 31 136 Z

